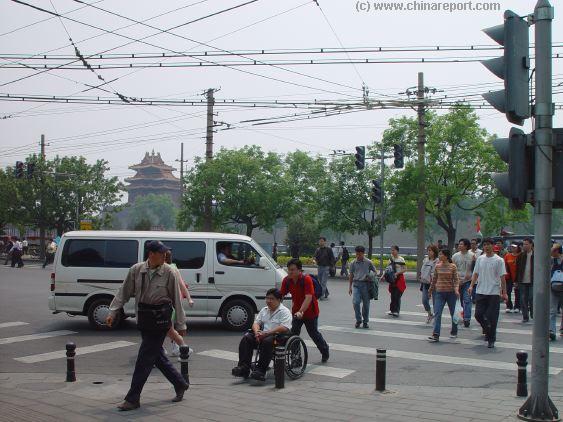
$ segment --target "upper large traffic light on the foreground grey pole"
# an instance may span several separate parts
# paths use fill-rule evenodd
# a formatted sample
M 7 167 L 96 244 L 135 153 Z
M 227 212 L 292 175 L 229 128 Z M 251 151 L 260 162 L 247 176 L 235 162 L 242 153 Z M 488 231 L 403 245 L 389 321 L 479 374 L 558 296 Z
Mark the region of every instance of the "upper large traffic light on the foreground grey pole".
M 509 122 L 523 125 L 524 120 L 530 118 L 528 23 L 507 10 L 504 12 L 503 25 L 483 31 L 504 46 L 503 57 L 482 61 L 487 69 L 504 79 L 504 89 L 483 94 L 483 98 L 505 113 Z

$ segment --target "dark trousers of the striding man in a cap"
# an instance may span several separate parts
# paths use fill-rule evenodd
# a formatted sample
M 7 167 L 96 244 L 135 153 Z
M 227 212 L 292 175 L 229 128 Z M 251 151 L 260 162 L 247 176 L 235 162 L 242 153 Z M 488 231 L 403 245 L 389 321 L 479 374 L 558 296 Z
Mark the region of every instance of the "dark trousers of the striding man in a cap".
M 186 385 L 182 375 L 174 368 L 172 363 L 164 354 L 162 343 L 166 338 L 166 331 L 141 331 L 141 346 L 135 363 L 135 372 L 131 380 L 131 388 L 125 396 L 129 403 L 138 403 L 141 399 L 141 391 L 147 382 L 153 366 L 174 386 L 175 390 L 180 390 Z

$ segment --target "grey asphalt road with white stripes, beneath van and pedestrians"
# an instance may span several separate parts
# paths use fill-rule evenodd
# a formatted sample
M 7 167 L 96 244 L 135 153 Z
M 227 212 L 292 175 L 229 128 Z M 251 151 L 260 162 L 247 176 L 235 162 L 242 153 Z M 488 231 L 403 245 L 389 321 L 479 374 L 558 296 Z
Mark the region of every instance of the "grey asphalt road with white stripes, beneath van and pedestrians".
M 0 266 L 0 372 L 60 373 L 65 371 L 67 341 L 78 345 L 77 372 L 122 375 L 132 373 L 139 343 L 134 320 L 114 332 L 92 330 L 85 317 L 53 315 L 47 309 L 49 267 L 27 265 L 21 270 Z M 309 347 L 310 363 L 318 365 L 305 376 L 308 381 L 373 384 L 375 349 L 388 350 L 390 384 L 404 386 L 481 387 L 515 389 L 515 353 L 530 349 L 531 325 L 519 322 L 516 314 L 501 315 L 497 348 L 487 349 L 476 322 L 460 329 L 457 341 L 429 344 L 431 328 L 424 323 L 417 285 L 410 283 L 399 319 L 386 315 L 389 297 L 372 302 L 368 330 L 354 329 L 347 283 L 329 281 L 330 298 L 321 302 L 321 331 L 331 344 L 328 364 L 320 365 L 320 354 Z M 304 338 L 308 336 L 303 333 Z M 230 378 L 232 358 L 240 333 L 225 331 L 220 321 L 194 318 L 189 322 L 188 343 L 196 353 L 190 370 L 199 378 Z M 87 354 L 80 355 L 82 352 Z M 563 391 L 563 341 L 552 343 L 550 388 Z M 557 403 L 560 409 L 563 403 Z

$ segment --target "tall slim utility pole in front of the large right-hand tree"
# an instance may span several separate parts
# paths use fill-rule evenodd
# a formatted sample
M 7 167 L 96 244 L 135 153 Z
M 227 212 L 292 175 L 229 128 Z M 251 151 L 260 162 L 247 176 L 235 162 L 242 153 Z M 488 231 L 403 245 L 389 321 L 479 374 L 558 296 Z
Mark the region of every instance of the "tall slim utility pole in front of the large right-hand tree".
M 416 275 L 420 277 L 422 261 L 424 259 L 424 225 L 426 221 L 426 184 L 424 183 L 425 167 L 425 144 L 426 144 L 426 122 L 424 106 L 424 73 L 418 72 L 418 89 L 416 98 L 418 100 L 418 227 L 416 230 Z

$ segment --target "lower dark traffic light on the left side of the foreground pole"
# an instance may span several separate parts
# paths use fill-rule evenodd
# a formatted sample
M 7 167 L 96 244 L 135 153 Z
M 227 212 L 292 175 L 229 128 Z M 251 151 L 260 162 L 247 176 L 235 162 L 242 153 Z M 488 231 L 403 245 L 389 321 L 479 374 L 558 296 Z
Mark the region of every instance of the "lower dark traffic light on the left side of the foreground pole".
M 508 172 L 493 173 L 492 177 L 498 190 L 508 198 L 511 209 L 524 208 L 527 191 L 534 188 L 533 148 L 527 141 L 528 135 L 514 127 L 508 138 L 493 141 L 500 158 L 508 163 Z

